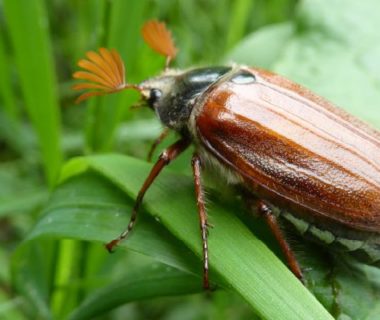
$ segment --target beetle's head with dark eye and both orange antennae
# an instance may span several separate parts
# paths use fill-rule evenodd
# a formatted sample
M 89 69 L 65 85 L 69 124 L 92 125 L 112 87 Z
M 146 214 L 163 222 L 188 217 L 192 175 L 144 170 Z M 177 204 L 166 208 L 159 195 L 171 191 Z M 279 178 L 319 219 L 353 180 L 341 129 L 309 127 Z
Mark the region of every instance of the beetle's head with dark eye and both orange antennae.
M 156 114 L 169 128 L 181 131 L 184 120 L 189 112 L 178 98 L 181 97 L 181 86 L 178 86 L 178 75 L 181 72 L 169 69 L 169 63 L 177 54 L 170 31 L 165 24 L 156 20 L 148 21 L 142 28 L 145 42 L 157 53 L 166 57 L 164 72 L 161 76 L 148 79 L 139 85 L 125 82 L 125 68 L 120 55 L 115 50 L 101 48 L 99 53 L 88 52 L 87 60 L 80 60 L 78 65 L 85 71 L 74 73 L 74 78 L 90 82 L 74 86 L 76 90 L 95 89 L 85 92 L 77 98 L 77 102 L 91 96 L 101 96 L 125 89 L 134 89 L 140 92 L 146 104 L 155 110 Z

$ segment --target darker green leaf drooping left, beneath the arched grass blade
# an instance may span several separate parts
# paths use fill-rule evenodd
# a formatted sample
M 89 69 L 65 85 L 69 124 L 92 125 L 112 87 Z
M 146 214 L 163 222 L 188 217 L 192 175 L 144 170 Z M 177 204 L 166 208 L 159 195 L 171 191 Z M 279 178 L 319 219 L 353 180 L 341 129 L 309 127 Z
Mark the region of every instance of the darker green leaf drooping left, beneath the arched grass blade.
M 70 171 L 73 170 L 70 163 L 69 167 Z M 89 168 L 81 163 L 74 172 L 86 167 Z M 132 206 L 133 199 L 126 198 L 115 185 L 93 172 L 87 172 L 59 186 L 44 210 L 44 217 L 28 239 L 44 235 L 104 244 L 127 225 Z M 123 246 L 176 268 L 196 272 L 198 263 L 194 262 L 195 257 L 159 223 L 142 214 L 136 229 Z

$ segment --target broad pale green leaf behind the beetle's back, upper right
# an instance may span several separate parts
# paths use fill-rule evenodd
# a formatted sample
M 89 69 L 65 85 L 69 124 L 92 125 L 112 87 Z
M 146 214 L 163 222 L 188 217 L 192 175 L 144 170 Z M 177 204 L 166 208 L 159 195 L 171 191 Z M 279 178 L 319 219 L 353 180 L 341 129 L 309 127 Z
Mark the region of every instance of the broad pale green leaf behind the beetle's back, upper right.
M 380 2 L 304 0 L 295 22 L 265 27 L 227 60 L 276 71 L 380 127 Z

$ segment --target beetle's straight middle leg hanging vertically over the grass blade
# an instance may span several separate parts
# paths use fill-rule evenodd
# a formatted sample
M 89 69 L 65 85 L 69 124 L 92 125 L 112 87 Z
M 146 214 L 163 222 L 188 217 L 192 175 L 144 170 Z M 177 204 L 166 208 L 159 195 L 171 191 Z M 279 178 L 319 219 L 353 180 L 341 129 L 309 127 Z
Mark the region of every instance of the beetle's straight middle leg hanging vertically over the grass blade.
M 194 153 L 191 165 L 193 167 L 194 174 L 194 185 L 195 185 L 195 195 L 197 198 L 197 206 L 199 213 L 199 224 L 201 228 L 202 244 L 203 244 L 203 287 L 205 289 L 210 288 L 210 283 L 208 279 L 208 224 L 207 224 L 207 213 L 204 201 L 204 192 L 201 181 L 201 159 L 197 153 Z

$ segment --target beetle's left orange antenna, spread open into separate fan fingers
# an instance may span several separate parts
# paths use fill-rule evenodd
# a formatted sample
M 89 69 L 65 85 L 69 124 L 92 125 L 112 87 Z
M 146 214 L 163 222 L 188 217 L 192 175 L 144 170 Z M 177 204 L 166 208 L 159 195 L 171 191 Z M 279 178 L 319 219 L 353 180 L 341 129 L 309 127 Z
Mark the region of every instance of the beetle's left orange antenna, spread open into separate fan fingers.
M 99 53 L 89 51 L 86 56 L 88 59 L 81 59 L 78 62 L 78 66 L 85 71 L 75 72 L 73 78 L 89 82 L 76 84 L 73 86 L 73 89 L 95 90 L 82 93 L 75 100 L 76 103 L 93 96 L 103 96 L 126 89 L 133 89 L 141 92 L 142 88 L 139 86 L 125 82 L 124 62 L 115 49 L 108 50 L 100 48 Z

